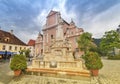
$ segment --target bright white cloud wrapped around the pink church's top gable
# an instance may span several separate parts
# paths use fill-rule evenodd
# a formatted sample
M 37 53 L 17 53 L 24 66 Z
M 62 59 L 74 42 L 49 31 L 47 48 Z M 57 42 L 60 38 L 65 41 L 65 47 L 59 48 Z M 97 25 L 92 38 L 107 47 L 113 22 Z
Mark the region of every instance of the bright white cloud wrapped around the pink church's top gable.
M 51 0 L 51 4 L 53 3 L 55 3 L 56 5 L 55 6 L 47 5 L 48 6 L 47 9 L 43 9 L 40 11 L 38 16 L 34 19 L 34 22 L 36 23 L 36 25 L 43 27 L 43 25 L 46 22 L 46 16 L 50 12 L 50 10 L 59 11 L 61 13 L 62 18 L 65 19 L 67 22 L 70 22 L 71 19 L 73 19 L 74 21 L 77 21 L 76 14 L 75 12 L 73 12 L 74 7 L 72 7 L 71 11 L 69 12 L 66 10 L 65 8 L 66 0 L 57 0 L 56 2 L 54 2 L 54 0 Z

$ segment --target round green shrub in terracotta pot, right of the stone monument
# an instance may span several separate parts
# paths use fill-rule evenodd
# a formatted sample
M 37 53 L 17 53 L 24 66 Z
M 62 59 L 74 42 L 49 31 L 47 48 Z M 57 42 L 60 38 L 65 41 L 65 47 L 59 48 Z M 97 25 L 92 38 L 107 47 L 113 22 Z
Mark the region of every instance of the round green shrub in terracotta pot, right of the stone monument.
M 97 52 L 87 52 L 83 59 L 88 70 L 91 71 L 93 76 L 98 76 L 99 69 L 103 67 L 101 58 Z

